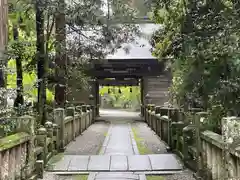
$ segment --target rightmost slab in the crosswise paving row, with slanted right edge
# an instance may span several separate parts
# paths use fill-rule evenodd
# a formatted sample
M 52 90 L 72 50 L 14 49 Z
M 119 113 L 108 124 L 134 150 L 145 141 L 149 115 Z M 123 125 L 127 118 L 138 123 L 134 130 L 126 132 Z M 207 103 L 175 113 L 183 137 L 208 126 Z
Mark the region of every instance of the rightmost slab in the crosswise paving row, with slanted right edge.
M 154 171 L 182 170 L 182 165 L 175 154 L 148 155 Z

